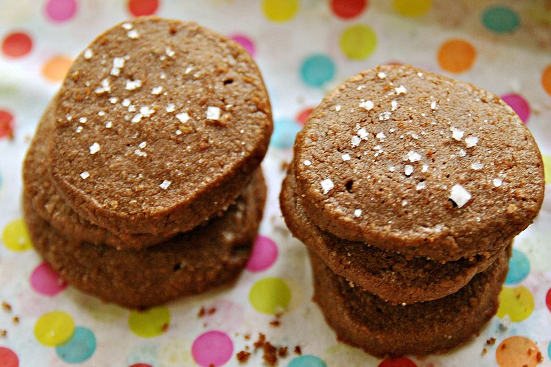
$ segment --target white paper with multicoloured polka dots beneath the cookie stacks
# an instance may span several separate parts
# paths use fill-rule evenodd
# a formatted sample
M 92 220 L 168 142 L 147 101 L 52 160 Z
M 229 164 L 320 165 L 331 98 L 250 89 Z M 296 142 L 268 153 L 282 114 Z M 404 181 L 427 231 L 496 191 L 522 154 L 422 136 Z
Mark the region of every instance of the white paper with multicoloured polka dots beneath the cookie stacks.
M 514 0 L 0 1 L 0 366 L 261 366 L 258 334 L 287 346 L 279 366 L 551 366 L 551 8 Z M 32 250 L 21 162 L 74 57 L 110 25 L 194 20 L 240 43 L 262 70 L 275 130 L 260 235 L 231 289 L 150 308 L 104 304 L 67 286 Z M 532 131 L 545 166 L 540 216 L 514 242 L 500 306 L 445 356 L 376 359 L 335 340 L 304 247 L 278 193 L 295 134 L 333 87 L 383 63 L 412 63 L 495 92 Z M 487 343 L 494 338 L 495 343 Z M 293 352 L 295 346 L 301 352 Z M 245 364 L 236 355 L 251 351 Z

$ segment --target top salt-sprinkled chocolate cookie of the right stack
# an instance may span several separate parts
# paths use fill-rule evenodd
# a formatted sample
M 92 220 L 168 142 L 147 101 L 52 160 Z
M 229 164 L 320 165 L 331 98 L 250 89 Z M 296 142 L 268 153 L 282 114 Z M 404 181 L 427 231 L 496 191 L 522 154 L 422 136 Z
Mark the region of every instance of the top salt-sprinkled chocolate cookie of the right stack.
M 331 92 L 295 140 L 300 204 L 322 230 L 404 255 L 496 249 L 543 201 L 541 154 L 490 92 L 407 65 Z

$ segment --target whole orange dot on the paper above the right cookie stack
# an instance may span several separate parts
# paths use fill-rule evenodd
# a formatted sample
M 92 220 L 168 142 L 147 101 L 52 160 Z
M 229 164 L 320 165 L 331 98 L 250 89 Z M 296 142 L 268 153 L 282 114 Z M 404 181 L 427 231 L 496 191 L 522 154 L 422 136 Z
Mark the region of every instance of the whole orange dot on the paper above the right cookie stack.
M 438 63 L 446 72 L 466 72 L 475 63 L 477 51 L 468 41 L 449 39 L 438 50 Z

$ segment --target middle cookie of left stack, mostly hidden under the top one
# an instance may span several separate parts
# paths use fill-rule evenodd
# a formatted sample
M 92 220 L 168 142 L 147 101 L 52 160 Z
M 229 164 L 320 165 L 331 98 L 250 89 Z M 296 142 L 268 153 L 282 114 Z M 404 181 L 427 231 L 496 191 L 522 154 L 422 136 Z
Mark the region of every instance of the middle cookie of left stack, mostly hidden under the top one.
M 48 141 L 54 128 L 54 101 L 42 116 L 23 162 L 23 195 L 30 200 L 36 213 L 57 231 L 76 241 L 108 244 L 121 249 L 142 248 L 158 244 L 176 233 L 152 235 L 113 233 L 81 218 L 59 196 L 50 178 L 46 163 Z

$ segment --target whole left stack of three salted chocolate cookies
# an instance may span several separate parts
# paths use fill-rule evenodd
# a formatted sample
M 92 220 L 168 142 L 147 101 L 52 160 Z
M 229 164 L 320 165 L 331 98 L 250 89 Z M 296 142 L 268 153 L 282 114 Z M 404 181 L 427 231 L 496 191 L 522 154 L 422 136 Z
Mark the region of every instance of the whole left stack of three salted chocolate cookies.
M 154 17 L 116 25 L 76 58 L 25 158 L 34 247 L 70 284 L 129 307 L 235 280 L 272 129 L 237 43 Z

